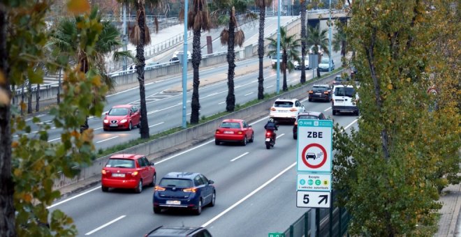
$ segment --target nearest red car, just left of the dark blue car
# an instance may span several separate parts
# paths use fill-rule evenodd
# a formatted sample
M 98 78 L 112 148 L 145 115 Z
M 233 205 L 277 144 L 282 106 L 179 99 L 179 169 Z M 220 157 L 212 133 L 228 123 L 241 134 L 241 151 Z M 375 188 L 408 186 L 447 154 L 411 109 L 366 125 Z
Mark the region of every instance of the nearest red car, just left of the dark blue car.
M 101 173 L 103 192 L 109 188 L 130 188 L 140 193 L 144 185 L 154 186 L 156 181 L 154 163 L 145 155 L 112 155 Z

